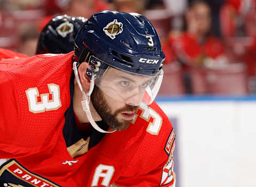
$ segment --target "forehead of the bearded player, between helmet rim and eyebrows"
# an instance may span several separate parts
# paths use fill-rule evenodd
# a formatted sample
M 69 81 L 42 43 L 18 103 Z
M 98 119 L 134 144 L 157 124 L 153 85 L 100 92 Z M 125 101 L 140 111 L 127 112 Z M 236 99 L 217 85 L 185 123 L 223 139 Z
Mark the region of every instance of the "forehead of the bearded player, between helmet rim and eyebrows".
M 126 73 L 121 70 L 114 69 L 113 67 L 110 67 L 110 66 L 106 71 L 106 73 L 103 75 L 103 77 L 105 80 L 109 80 L 109 81 L 130 80 L 132 82 L 143 82 L 151 79 L 151 77 Z

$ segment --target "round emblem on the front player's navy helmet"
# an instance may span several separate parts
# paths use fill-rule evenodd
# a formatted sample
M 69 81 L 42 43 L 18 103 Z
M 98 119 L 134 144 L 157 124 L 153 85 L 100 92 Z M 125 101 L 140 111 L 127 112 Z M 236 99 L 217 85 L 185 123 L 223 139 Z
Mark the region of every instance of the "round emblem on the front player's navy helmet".
M 116 35 L 123 32 L 123 23 L 118 22 L 116 19 L 107 24 L 106 27 L 103 28 L 103 31 L 109 36 L 111 39 L 115 39 Z

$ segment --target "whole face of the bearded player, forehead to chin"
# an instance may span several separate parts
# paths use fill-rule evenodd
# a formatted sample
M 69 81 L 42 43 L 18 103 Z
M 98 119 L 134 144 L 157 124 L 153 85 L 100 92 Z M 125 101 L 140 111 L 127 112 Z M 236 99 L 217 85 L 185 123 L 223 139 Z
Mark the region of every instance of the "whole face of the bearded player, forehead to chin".
M 125 130 L 135 117 L 151 77 L 130 74 L 113 67 L 96 79 L 91 100 L 110 128 Z

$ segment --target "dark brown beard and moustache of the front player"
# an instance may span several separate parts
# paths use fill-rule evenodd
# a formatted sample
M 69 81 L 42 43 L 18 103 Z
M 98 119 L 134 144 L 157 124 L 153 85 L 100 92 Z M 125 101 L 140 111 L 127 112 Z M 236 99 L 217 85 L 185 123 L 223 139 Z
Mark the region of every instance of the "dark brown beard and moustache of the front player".
M 110 107 L 106 99 L 103 97 L 103 92 L 97 86 L 94 86 L 93 88 L 91 101 L 103 122 L 107 123 L 110 128 L 119 131 L 127 129 L 131 120 L 119 121 L 116 116 L 121 112 L 137 111 L 139 108 L 138 106 L 126 105 L 125 107 L 118 109 L 114 114 L 111 114 Z

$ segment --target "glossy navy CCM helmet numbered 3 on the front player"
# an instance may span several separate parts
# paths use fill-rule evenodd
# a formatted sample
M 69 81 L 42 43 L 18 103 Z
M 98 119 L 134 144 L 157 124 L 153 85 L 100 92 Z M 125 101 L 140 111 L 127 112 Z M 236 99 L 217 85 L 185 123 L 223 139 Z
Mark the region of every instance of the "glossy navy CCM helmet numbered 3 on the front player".
M 95 62 L 96 73 L 111 66 L 154 76 L 162 70 L 165 55 L 156 29 L 145 16 L 102 11 L 93 14 L 77 33 L 75 58 L 78 63 Z

